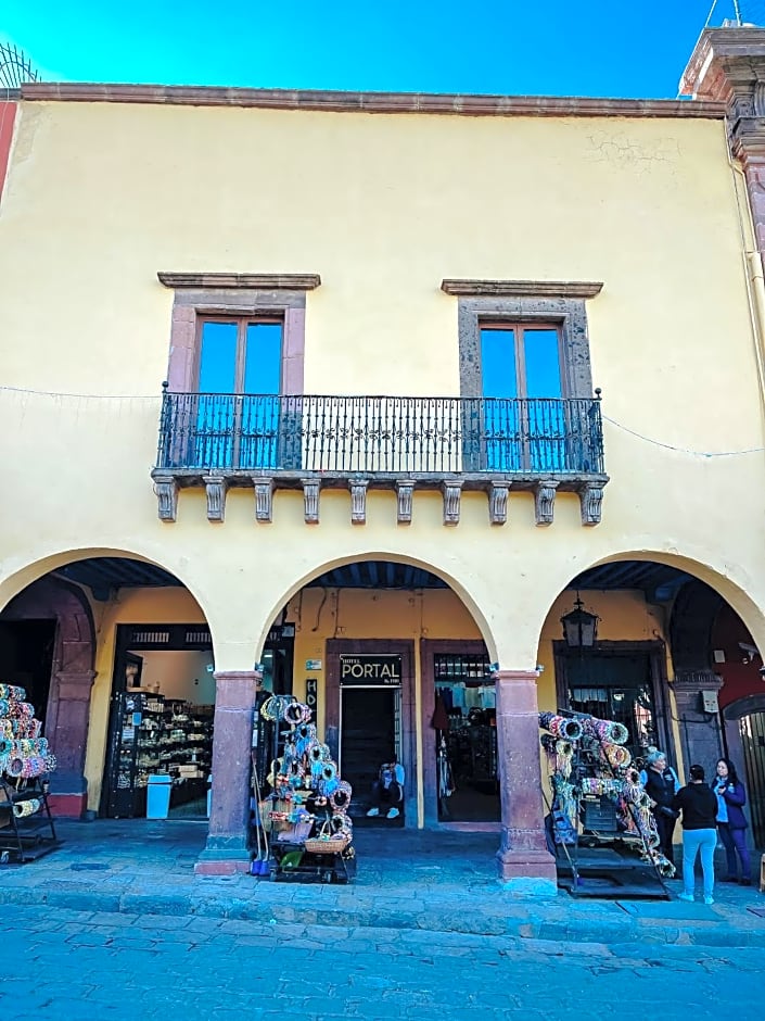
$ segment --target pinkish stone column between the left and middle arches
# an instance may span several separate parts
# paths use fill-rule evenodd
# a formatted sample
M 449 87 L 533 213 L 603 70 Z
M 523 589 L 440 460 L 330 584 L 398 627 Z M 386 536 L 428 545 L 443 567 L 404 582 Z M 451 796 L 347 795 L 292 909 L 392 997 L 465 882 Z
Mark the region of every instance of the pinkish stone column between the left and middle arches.
M 250 867 L 250 778 L 256 670 L 215 675 L 213 805 L 207 845 L 194 866 L 203 874 L 230 875 Z

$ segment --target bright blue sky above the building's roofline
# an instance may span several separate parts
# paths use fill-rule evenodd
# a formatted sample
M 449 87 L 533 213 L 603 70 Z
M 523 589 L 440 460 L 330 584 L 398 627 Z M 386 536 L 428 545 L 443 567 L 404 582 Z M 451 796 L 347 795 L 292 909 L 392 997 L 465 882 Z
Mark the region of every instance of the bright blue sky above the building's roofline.
M 46 80 L 674 98 L 712 0 L 0 0 Z M 765 22 L 763 0 L 740 0 Z M 712 17 L 732 15 L 718 0 Z

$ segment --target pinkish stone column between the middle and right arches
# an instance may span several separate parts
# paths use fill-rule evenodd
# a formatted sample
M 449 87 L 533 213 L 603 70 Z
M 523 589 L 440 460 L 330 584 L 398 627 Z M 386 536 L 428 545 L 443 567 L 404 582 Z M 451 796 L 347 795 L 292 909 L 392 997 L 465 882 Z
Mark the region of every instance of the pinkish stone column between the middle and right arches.
M 499 874 L 524 893 L 556 892 L 556 861 L 543 819 L 535 670 L 498 670 L 497 749 L 501 801 Z

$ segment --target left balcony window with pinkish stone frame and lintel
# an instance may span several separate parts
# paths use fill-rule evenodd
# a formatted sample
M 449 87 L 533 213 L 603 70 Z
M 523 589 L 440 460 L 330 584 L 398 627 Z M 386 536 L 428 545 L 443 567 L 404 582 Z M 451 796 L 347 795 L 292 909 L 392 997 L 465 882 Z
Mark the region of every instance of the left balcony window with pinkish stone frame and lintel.
M 318 276 L 160 274 L 175 290 L 168 464 L 290 467 L 299 456 L 305 292 Z M 298 430 L 297 430 L 298 431 Z

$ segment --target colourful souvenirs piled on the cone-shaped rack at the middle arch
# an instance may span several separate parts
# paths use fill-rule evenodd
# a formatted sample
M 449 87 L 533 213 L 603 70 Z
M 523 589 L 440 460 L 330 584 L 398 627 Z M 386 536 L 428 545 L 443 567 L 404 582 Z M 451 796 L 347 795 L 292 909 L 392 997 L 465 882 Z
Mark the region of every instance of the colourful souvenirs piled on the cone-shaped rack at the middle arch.
M 291 695 L 271 695 L 260 715 L 277 728 L 280 722 L 290 727 L 282 755 L 267 777 L 270 794 L 259 798 L 260 828 L 272 842 L 299 844 L 310 854 L 349 856 L 350 784 L 340 779 L 329 747 L 318 740 L 310 708 Z M 259 797 L 256 777 L 254 783 Z M 258 839 L 258 858 L 263 853 Z

